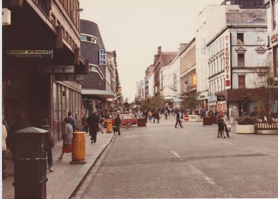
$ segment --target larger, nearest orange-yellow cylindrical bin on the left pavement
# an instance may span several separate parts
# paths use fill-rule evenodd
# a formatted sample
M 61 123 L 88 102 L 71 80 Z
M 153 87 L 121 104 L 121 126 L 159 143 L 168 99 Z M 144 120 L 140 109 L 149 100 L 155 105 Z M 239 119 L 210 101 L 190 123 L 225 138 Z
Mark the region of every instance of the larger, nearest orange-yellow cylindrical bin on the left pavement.
M 73 132 L 72 138 L 72 161 L 71 164 L 85 164 L 85 132 Z

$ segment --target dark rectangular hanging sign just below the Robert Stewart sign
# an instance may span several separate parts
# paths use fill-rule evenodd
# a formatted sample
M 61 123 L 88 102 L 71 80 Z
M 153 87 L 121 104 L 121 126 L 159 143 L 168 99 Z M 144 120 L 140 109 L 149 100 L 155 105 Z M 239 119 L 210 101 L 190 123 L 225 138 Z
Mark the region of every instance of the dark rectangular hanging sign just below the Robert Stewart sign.
M 74 65 L 41 65 L 38 68 L 39 73 L 51 73 L 51 74 L 61 74 L 61 73 L 74 73 Z

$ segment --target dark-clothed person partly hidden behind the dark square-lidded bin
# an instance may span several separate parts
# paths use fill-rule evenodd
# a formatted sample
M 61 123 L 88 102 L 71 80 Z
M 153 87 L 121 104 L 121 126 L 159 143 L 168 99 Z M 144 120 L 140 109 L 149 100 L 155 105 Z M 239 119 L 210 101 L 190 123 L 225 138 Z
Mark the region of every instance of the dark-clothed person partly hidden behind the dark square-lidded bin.
M 47 169 L 50 172 L 54 171 L 53 168 L 53 157 L 52 157 L 52 149 L 54 148 L 54 136 L 53 132 L 49 126 L 48 120 L 44 119 L 42 121 L 42 125 L 40 126 L 42 129 L 45 129 L 48 131 L 47 133 L 47 143 L 45 145 L 45 149 L 47 150 Z

